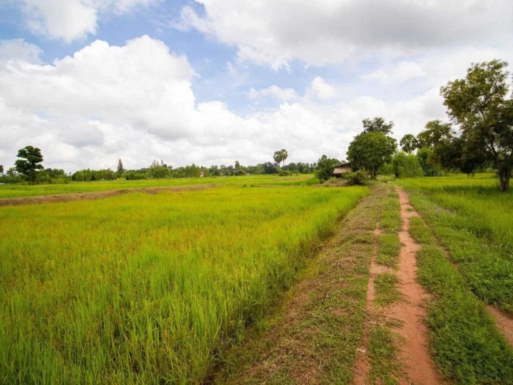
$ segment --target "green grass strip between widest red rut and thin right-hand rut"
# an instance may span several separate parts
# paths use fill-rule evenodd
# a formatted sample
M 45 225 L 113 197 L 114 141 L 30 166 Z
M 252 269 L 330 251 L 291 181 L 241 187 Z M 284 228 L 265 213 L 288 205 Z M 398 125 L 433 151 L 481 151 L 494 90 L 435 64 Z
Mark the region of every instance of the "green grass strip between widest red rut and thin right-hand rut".
M 410 196 L 411 201 L 411 196 Z M 412 237 L 422 245 L 418 279 L 433 294 L 428 301 L 430 351 L 441 373 L 455 383 L 513 383 L 513 350 L 452 267 L 420 218 L 410 219 Z

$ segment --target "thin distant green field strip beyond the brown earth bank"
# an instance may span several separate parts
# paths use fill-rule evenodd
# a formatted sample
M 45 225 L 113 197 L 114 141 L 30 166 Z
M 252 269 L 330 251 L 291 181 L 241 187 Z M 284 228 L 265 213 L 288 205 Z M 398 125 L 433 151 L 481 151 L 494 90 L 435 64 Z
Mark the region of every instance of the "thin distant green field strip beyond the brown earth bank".
M 293 175 L 290 177 L 242 176 L 242 177 L 215 177 L 215 178 L 178 178 L 178 179 L 146 179 L 146 180 L 115 180 L 94 182 L 70 182 L 68 184 L 40 184 L 40 185 L 4 185 L 0 186 L 1 198 L 30 197 L 36 195 L 74 194 L 77 192 L 94 192 L 105 190 L 120 190 L 124 188 L 155 187 L 155 186 L 186 186 L 191 184 L 223 184 L 228 186 L 242 185 L 301 185 L 319 183 L 313 175 Z

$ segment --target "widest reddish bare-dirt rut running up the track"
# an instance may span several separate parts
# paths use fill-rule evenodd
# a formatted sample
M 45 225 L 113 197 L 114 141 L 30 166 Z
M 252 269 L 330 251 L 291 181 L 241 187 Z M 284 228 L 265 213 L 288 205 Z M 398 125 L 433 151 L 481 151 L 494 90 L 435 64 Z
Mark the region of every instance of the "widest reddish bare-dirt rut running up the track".
M 404 338 L 399 358 L 404 363 L 404 377 L 399 379 L 403 384 L 441 384 L 444 383 L 433 364 L 427 347 L 426 325 L 423 302 L 427 298 L 422 286 L 417 282 L 417 262 L 415 256 L 420 245 L 409 234 L 409 218 L 417 216 L 408 203 L 406 192 L 398 190 L 403 222 L 399 238 L 403 244 L 399 253 L 399 269 L 397 277 L 402 301 L 393 303 L 386 310 L 386 315 L 400 323 L 397 333 Z

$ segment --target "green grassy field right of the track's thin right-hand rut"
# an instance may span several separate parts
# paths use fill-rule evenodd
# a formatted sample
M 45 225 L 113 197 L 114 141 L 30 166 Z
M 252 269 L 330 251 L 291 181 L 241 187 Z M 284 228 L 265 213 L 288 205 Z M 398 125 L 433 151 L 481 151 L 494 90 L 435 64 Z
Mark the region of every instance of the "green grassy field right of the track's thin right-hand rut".
M 513 193 L 501 194 L 497 178 L 487 174 L 397 182 L 472 290 L 513 313 Z

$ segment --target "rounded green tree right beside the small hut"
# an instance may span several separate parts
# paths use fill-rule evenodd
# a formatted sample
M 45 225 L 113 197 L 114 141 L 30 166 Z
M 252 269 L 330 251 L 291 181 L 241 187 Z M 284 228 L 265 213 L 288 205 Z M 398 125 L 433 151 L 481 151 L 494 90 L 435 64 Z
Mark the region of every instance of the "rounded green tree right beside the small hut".
M 376 170 L 390 162 L 396 150 L 397 141 L 383 131 L 364 131 L 349 144 L 347 159 L 353 168 L 365 168 L 370 178 L 376 179 Z

